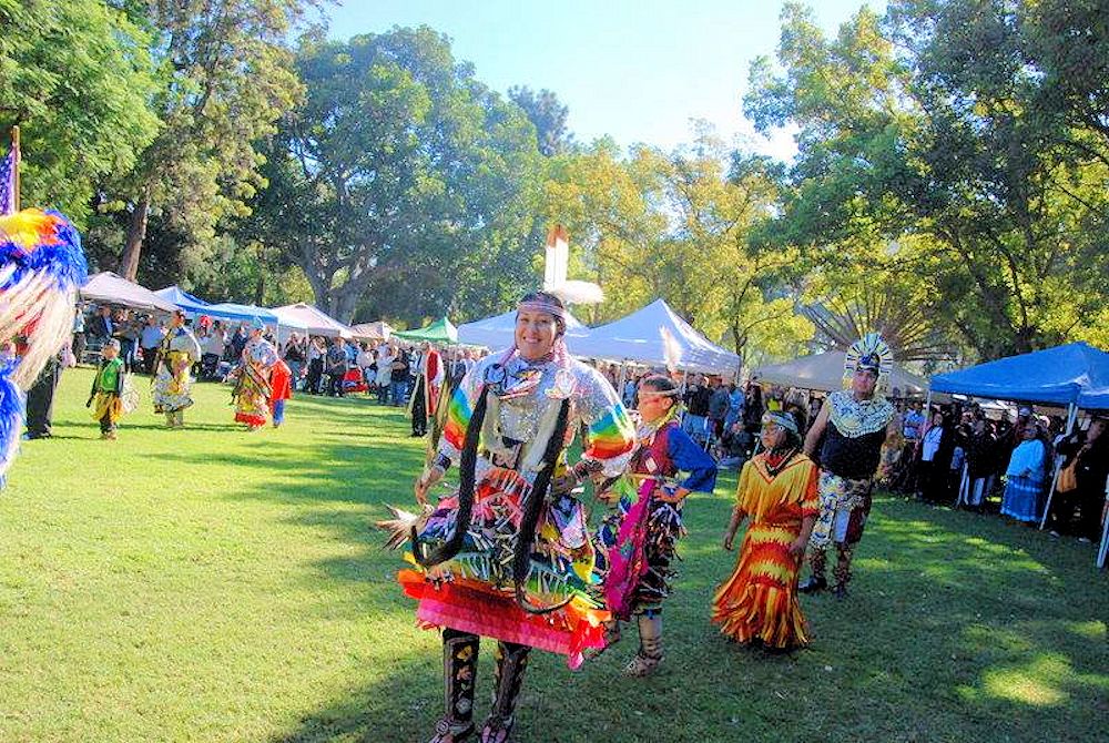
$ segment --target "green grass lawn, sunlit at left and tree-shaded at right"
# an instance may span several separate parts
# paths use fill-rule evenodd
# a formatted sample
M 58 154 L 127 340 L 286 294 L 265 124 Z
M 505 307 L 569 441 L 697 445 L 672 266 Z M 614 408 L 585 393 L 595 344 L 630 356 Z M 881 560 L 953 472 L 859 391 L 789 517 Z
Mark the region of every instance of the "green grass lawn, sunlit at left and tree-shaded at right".
M 298 397 L 246 434 L 230 388 L 200 385 L 186 430 L 144 395 L 100 441 L 90 377 L 63 375 L 55 437 L 24 444 L 0 495 L 0 741 L 425 740 L 439 642 L 372 527 L 421 462 L 401 413 Z M 633 632 L 576 673 L 536 653 L 517 740 L 1106 740 L 1091 546 L 881 498 L 854 594 L 804 598 L 812 649 L 770 655 L 708 622 L 734 481 L 686 509 L 660 672 L 621 674 Z

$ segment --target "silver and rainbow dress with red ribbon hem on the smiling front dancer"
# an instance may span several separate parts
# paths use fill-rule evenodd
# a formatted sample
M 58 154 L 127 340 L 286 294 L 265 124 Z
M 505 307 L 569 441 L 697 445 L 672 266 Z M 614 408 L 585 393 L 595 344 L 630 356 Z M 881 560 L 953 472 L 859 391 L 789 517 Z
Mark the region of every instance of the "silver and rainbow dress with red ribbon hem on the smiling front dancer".
M 439 460 L 448 466 L 462 457 L 482 387 L 488 387 L 487 407 L 469 528 L 457 554 L 435 568 L 440 574 L 449 571 L 451 580 L 433 586 L 423 568 L 403 570 L 398 580 L 419 602 L 416 617 L 425 628 L 450 628 L 560 653 L 576 668 L 582 651 L 603 647 L 602 624 L 609 618 L 599 598 L 586 508 L 570 492 L 547 495 L 523 581 L 526 605 L 515 590 L 517 535 L 563 406 L 566 435 L 556 472 L 581 428 L 582 460 L 603 476 L 620 475 L 634 446 L 634 429 L 615 391 L 592 367 L 564 352 L 528 362 L 513 350 L 479 362 L 451 397 L 438 449 Z M 458 516 L 456 493 L 416 523 L 419 541 L 431 549 L 444 544 Z M 410 552 L 406 558 L 417 562 Z

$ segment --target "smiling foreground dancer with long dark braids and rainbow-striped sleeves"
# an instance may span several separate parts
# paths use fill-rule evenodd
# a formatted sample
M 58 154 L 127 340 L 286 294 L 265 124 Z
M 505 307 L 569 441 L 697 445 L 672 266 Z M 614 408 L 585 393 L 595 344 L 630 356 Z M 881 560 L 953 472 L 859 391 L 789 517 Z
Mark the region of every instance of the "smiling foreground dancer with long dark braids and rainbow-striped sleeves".
M 603 645 L 593 581 L 594 551 L 586 512 L 572 493 L 590 475 L 620 475 L 634 428 L 612 386 L 569 356 L 562 302 L 538 292 L 523 297 L 516 343 L 479 362 L 447 409 L 438 454 L 416 481 L 416 499 L 457 464 L 459 489 L 406 521 L 381 522 L 393 544 L 409 538 L 417 570 L 401 571 L 405 592 L 425 627 L 442 628 L 447 710 L 433 743 L 475 732 L 474 692 L 479 637 L 497 640 L 492 710 L 481 741 L 502 743 L 531 648 L 567 655 L 571 666 Z M 581 460 L 566 450 L 584 427 Z M 552 487 L 553 486 L 553 487 Z

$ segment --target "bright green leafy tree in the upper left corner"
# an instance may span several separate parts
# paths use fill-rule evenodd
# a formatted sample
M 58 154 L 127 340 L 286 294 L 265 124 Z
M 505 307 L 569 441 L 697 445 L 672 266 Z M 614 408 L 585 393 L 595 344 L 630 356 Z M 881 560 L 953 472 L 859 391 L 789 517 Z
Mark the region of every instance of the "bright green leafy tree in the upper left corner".
M 150 43 L 101 0 L 0 0 L 0 140 L 20 126 L 24 204 L 84 226 L 98 181 L 134 166 L 159 129 Z

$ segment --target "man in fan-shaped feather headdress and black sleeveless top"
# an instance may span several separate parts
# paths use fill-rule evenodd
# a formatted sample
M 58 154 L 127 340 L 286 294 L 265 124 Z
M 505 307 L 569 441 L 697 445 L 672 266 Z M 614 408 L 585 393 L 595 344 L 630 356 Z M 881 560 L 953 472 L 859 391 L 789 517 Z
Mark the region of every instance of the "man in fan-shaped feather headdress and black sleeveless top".
M 810 540 L 812 576 L 800 590 L 827 588 L 827 548 L 835 543 L 834 593 L 847 594 L 851 560 L 871 512 L 871 490 L 894 406 L 877 394 L 889 377 L 893 354 L 876 333 L 847 349 L 844 380 L 849 389 L 828 395 L 805 437 L 805 454 L 818 461 L 820 516 Z

